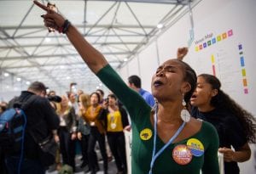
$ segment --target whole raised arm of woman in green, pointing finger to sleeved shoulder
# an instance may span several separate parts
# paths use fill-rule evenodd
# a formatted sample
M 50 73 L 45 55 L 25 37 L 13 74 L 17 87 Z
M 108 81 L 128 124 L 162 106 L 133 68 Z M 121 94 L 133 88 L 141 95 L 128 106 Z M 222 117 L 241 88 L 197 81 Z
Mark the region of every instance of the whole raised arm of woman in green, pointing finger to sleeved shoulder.
M 136 117 L 141 113 L 141 109 L 145 112 L 151 109 L 140 94 L 128 87 L 125 81 L 108 65 L 108 61 L 102 53 L 93 48 L 73 25 L 67 25 L 69 23 L 61 14 L 50 10 L 44 4 L 38 3 L 38 1 L 34 1 L 34 3 L 47 12 L 47 14 L 42 15 L 44 25 L 54 28 L 55 31 L 67 34 L 68 39 L 84 59 L 85 64 L 101 79 L 108 89 L 117 95 L 126 109 L 129 110 L 130 115 Z M 140 107 L 134 107 L 134 104 L 140 105 Z M 85 121 L 87 119 L 85 116 Z

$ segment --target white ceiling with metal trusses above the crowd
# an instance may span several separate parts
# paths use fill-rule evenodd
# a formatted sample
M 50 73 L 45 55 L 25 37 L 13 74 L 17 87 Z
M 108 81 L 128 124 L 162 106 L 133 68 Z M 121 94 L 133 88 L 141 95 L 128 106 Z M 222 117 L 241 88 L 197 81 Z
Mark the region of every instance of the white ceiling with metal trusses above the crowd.
M 158 24 L 165 29 L 187 13 L 188 2 L 50 1 L 115 69 L 163 31 Z M 84 65 L 65 35 L 48 32 L 41 14 L 44 11 L 33 5 L 32 0 L 0 1 L 0 92 L 26 89 L 32 81 L 43 81 L 59 92 L 67 91 L 71 82 L 77 82 L 86 92 L 95 91 L 100 81 Z

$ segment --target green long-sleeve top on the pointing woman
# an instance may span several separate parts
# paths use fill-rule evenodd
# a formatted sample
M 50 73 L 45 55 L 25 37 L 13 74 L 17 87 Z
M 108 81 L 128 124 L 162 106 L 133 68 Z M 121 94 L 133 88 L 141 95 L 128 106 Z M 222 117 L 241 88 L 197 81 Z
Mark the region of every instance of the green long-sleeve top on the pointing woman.
M 102 68 L 96 76 L 119 98 L 131 116 L 131 173 L 148 174 L 154 146 L 154 126 L 150 122 L 150 106 L 138 93 L 127 87 L 110 65 Z M 175 154 L 173 149 L 183 147 L 181 144 L 187 146 L 192 138 L 201 142 L 202 153 L 200 156 L 192 155 L 192 160 L 188 164 L 179 165 L 173 159 L 173 154 Z M 165 143 L 157 136 L 156 152 L 164 145 Z M 199 174 L 200 170 L 205 174 L 218 174 L 217 152 L 218 134 L 211 124 L 202 122 L 199 132 L 183 141 L 172 143 L 160 154 L 154 162 L 153 174 Z

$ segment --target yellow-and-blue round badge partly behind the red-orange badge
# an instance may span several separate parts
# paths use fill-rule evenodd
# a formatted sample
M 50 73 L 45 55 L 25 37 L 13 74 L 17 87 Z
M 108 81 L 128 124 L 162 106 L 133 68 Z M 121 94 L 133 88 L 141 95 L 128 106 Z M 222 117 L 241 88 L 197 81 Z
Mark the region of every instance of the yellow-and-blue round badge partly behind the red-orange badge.
M 187 146 L 194 156 L 201 156 L 202 154 L 204 154 L 204 145 L 196 138 L 190 138 L 187 142 Z

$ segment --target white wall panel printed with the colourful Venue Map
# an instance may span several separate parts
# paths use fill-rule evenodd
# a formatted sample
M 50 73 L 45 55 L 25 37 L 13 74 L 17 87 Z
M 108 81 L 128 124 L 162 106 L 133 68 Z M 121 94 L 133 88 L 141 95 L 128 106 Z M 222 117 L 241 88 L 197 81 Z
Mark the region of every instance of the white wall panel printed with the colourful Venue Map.
M 224 1 L 225 2 L 225 1 Z M 217 76 L 222 89 L 256 115 L 256 1 L 233 0 L 195 22 L 188 62 Z M 196 9 L 195 9 L 196 10 Z

